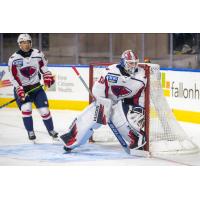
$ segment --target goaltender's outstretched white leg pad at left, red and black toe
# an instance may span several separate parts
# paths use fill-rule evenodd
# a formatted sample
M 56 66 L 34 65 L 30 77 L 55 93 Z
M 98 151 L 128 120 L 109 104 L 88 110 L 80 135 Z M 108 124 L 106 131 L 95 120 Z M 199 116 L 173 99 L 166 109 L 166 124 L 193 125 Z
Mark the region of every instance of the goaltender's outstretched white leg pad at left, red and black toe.
M 71 124 L 66 134 L 60 136 L 67 148 L 74 149 L 82 144 L 93 134 L 92 129 L 99 127 L 93 120 L 95 103 L 90 104 Z

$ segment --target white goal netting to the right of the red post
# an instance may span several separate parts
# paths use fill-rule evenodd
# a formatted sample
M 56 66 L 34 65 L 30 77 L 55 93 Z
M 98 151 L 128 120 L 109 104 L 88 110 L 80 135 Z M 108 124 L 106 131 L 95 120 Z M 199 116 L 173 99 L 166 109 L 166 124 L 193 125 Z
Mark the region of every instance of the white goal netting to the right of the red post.
M 199 151 L 177 122 L 161 86 L 160 66 L 150 65 L 149 150 L 152 153 L 195 153 Z

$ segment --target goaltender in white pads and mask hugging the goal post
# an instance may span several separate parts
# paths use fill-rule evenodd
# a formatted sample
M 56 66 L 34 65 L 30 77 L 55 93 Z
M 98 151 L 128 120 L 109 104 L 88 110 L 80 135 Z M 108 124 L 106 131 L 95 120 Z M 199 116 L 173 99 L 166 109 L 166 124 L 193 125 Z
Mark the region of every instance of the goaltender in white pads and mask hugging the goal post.
M 66 134 L 60 136 L 66 151 L 86 143 L 93 129 L 106 125 L 109 120 L 112 120 L 130 149 L 139 149 L 145 145 L 142 129 L 147 80 L 138 62 L 136 53 L 126 50 L 119 64 L 105 69 L 93 86 L 96 101 L 73 121 Z

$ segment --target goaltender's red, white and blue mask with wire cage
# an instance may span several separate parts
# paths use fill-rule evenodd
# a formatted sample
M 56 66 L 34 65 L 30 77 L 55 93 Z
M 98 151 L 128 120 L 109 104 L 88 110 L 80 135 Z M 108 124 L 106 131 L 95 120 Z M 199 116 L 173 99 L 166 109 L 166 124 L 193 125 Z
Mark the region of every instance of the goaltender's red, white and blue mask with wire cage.
M 132 52 L 132 50 L 126 50 L 123 52 L 120 59 L 120 65 L 121 67 L 124 67 L 128 74 L 133 74 L 134 68 L 137 67 L 138 63 L 139 58 L 135 52 Z

